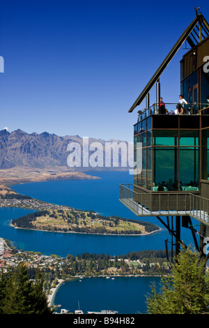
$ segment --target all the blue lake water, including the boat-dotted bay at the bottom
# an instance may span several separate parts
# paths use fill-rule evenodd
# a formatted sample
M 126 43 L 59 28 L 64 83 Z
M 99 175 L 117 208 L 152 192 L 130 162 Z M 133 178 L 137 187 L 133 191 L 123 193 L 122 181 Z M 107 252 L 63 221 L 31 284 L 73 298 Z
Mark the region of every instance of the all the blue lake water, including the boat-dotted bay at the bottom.
M 104 216 L 137 219 L 137 216 L 118 200 L 119 184 L 132 184 L 132 175 L 128 172 L 91 172 L 91 175 L 101 179 L 20 184 L 13 186 L 13 189 L 17 193 L 54 204 L 92 209 Z M 39 251 L 45 255 L 56 254 L 61 257 L 86 252 L 121 255 L 144 249 L 165 249 L 165 239 L 171 241 L 171 236 L 162 223 L 157 218 L 148 217 L 138 219 L 159 225 L 162 228 L 160 232 L 148 236 L 103 236 L 21 230 L 8 225 L 13 218 L 29 212 L 31 211 L 26 209 L 0 208 L 0 237 L 10 239 L 17 248 L 23 248 L 24 251 Z M 183 229 L 181 239 L 187 245 L 192 244 L 191 232 Z M 120 313 L 143 313 L 146 311 L 145 294 L 150 292 L 150 285 L 156 279 L 158 278 L 118 277 L 111 281 L 84 278 L 82 282 L 73 281 L 62 285 L 56 293 L 55 303 L 62 304 L 62 308 L 68 308 L 70 311 L 75 311 L 77 302 L 80 301 L 85 312 L 111 308 Z

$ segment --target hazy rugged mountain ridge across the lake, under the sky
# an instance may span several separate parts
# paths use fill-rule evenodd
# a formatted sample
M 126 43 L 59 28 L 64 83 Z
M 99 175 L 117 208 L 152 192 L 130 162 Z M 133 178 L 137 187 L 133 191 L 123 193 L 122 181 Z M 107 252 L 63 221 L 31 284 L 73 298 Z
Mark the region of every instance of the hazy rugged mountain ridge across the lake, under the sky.
M 100 142 L 104 145 L 105 140 L 89 137 L 91 142 Z M 79 135 L 66 135 L 60 137 L 43 133 L 26 133 L 20 129 L 8 132 L 6 129 L 0 131 L 0 169 L 9 169 L 15 166 L 36 167 L 45 169 L 45 167 L 68 167 L 67 150 L 70 142 L 79 142 L 81 149 L 83 138 Z M 120 140 L 109 140 L 109 142 L 121 142 Z M 125 142 L 127 144 L 127 142 Z M 90 152 L 91 154 L 91 152 Z M 121 165 L 121 156 L 118 157 L 119 166 Z M 96 169 L 101 167 L 95 167 Z M 69 169 L 69 167 L 68 167 Z M 111 167 L 112 169 L 112 167 Z M 120 167 L 119 167 L 120 169 Z M 123 169 L 123 167 L 121 167 Z M 75 170 L 88 171 L 92 167 L 76 167 Z

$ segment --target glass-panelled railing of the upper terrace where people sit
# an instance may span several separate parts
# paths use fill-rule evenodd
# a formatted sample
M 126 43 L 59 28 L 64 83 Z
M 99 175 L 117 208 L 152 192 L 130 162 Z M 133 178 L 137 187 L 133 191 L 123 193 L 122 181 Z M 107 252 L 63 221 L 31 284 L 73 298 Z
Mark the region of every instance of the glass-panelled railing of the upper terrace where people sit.
M 175 114 L 177 103 L 165 103 L 165 114 Z M 209 114 L 208 103 L 187 103 L 183 105 L 184 114 Z M 160 114 L 160 103 L 154 103 L 147 109 L 139 110 L 139 117 L 145 119 L 146 117 L 153 114 Z

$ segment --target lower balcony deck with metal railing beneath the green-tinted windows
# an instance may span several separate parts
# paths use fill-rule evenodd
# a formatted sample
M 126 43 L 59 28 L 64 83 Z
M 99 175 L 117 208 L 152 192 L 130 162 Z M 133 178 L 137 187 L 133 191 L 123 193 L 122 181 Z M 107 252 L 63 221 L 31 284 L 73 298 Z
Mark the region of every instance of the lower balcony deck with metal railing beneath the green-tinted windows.
M 209 224 L 207 198 L 192 193 L 137 193 L 131 184 L 119 188 L 119 200 L 137 216 L 192 216 Z

